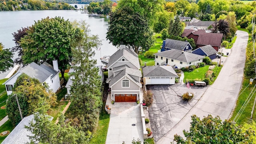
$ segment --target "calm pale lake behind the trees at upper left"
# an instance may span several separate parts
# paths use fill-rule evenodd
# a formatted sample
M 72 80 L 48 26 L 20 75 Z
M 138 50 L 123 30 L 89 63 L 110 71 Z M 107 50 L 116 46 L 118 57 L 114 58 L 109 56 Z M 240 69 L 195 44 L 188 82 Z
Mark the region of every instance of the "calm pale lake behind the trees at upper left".
M 72 4 L 77 5 L 78 8 L 84 4 Z M 63 17 L 65 20 L 85 20 L 90 25 L 91 34 L 98 35 L 102 40 L 101 50 L 95 50 L 94 59 L 97 60 L 97 64 L 100 65 L 100 57 L 105 55 L 112 55 L 116 52 L 117 48 L 106 40 L 106 32 L 108 28 L 107 18 L 95 18 L 88 17 L 88 14 L 81 14 L 80 10 L 36 10 L 36 11 L 12 11 L 12 12 L 0 12 L 0 42 L 5 48 L 12 48 L 15 46 L 12 33 L 22 27 L 32 26 L 34 21 L 41 20 L 49 16 L 53 18 L 55 16 Z M 17 54 L 14 55 L 14 58 Z M 4 78 L 7 74 L 1 73 L 0 79 Z

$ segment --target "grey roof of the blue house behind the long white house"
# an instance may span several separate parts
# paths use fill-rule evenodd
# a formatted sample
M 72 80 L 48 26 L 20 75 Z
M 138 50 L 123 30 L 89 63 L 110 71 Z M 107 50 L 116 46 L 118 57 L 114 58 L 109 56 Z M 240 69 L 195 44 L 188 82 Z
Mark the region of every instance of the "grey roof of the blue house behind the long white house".
M 166 48 L 172 48 L 175 50 L 184 50 L 184 48 L 187 46 L 188 42 L 180 41 L 180 40 L 172 40 L 167 38 L 165 40 L 165 46 Z

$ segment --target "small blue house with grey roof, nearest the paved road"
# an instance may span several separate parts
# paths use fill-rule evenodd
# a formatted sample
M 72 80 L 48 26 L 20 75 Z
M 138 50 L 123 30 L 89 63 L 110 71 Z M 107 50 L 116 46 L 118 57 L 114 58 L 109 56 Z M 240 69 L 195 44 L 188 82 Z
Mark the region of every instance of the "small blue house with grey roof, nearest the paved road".
M 213 60 L 216 58 L 217 51 L 211 45 L 207 45 L 192 51 L 192 53 L 201 56 L 208 56 L 211 60 Z

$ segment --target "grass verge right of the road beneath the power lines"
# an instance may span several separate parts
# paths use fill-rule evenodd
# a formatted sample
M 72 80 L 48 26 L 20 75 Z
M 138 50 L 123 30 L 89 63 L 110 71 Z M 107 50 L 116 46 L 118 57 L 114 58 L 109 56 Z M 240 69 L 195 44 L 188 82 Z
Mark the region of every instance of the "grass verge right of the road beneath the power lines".
M 234 120 L 234 118 L 238 114 L 239 110 L 241 109 L 242 105 L 244 104 L 244 102 L 246 101 L 250 92 L 252 91 L 253 87 L 256 84 L 256 81 L 254 80 L 252 85 L 248 86 L 249 82 L 250 82 L 250 79 L 244 78 L 243 83 L 242 83 L 242 89 L 240 90 L 240 95 L 238 96 L 238 99 L 236 101 L 236 108 L 234 109 L 231 120 Z M 254 103 L 254 98 L 255 98 L 255 94 L 252 96 L 251 100 L 248 102 L 247 106 L 245 107 L 244 111 L 242 112 L 242 114 L 238 118 L 238 120 L 237 119 L 235 120 L 237 124 L 244 124 L 244 122 L 249 122 L 250 121 L 250 116 L 251 116 L 252 106 L 253 106 L 253 103 Z M 253 114 L 253 119 L 254 120 L 256 118 L 256 112 L 255 111 L 256 110 L 254 109 L 254 114 Z

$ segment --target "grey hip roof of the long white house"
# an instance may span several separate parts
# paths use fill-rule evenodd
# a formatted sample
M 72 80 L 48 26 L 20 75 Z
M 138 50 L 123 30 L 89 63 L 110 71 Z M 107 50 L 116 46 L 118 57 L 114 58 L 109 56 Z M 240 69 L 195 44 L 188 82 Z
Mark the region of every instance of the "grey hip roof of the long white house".
M 154 54 L 156 56 L 162 56 L 165 58 L 170 58 L 170 59 L 174 59 L 174 60 L 178 60 L 181 62 L 193 62 L 195 60 L 199 60 L 204 58 L 204 56 L 200 56 L 198 54 L 192 54 L 190 52 L 182 52 L 180 50 L 166 50 L 163 52 L 158 52 L 156 54 Z

